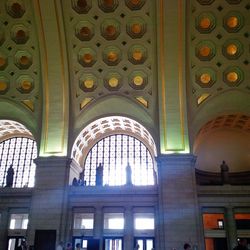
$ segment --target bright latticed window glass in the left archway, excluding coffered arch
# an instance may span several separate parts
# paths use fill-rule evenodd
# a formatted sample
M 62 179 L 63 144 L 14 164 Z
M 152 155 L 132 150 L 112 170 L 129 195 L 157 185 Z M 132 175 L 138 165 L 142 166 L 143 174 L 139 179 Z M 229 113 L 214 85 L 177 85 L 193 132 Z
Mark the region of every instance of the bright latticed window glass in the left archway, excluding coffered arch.
M 26 137 L 12 137 L 0 143 L 0 186 L 34 187 L 37 157 L 36 142 Z M 12 165 L 13 183 L 7 185 L 7 172 Z M 12 182 L 12 181 L 11 181 Z

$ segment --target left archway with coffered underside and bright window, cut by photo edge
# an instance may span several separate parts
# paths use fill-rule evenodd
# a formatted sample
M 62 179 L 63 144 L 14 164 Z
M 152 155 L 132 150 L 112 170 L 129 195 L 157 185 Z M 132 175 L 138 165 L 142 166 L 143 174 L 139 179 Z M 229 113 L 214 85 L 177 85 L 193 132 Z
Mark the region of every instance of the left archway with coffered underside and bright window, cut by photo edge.
M 20 123 L 0 121 L 0 186 L 6 186 L 8 168 L 14 169 L 12 187 L 34 187 L 37 145 L 31 133 Z

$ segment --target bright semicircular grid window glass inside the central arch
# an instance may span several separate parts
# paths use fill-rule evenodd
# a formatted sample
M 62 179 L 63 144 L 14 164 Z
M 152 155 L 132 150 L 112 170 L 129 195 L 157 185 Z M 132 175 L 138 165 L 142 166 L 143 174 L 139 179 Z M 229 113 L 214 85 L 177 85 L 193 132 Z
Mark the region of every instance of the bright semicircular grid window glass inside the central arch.
M 88 152 L 84 164 L 86 186 L 96 185 L 97 168 L 103 166 L 102 185 L 120 186 L 128 183 L 126 167 L 131 167 L 133 185 L 154 185 L 153 158 L 147 147 L 135 137 L 114 134 L 98 141 Z M 98 184 L 97 184 L 98 185 Z

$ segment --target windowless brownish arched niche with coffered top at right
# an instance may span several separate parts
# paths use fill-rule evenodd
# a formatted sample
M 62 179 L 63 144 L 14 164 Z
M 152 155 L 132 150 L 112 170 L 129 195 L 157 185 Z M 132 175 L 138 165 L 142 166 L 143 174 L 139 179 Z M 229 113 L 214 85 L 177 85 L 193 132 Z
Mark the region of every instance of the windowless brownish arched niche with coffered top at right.
M 231 172 L 250 170 L 250 115 L 217 116 L 202 126 L 194 141 L 196 167 L 219 172 L 226 161 Z

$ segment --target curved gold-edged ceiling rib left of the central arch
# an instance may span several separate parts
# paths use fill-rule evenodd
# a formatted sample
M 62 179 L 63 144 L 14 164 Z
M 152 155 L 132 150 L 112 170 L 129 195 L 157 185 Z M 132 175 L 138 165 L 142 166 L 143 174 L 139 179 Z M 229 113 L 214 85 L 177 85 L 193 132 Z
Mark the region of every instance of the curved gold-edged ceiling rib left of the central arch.
M 43 116 L 40 156 L 65 156 L 68 150 L 69 75 L 60 0 L 35 0 L 42 65 Z

